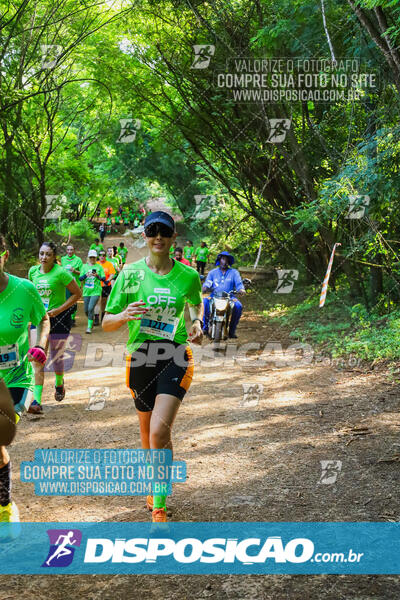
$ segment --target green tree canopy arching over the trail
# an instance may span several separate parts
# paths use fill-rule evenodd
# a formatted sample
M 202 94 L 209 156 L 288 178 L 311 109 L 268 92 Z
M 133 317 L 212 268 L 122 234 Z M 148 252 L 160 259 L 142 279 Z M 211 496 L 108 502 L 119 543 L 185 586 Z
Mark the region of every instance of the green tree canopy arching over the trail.
M 340 242 L 333 284 L 344 275 L 367 305 L 398 300 L 396 2 L 0 7 L 0 211 L 15 246 L 40 241 L 48 195 L 67 198 L 71 220 L 161 195 L 191 237 L 248 262 L 262 241 L 264 262 L 297 265 L 314 286 Z M 61 48 L 51 67 L 46 44 Z M 219 75 L 256 58 L 357 59 L 379 77 L 356 101 L 235 99 Z M 280 143 L 271 119 L 290 121 Z M 127 121 L 135 134 L 125 143 Z M 360 219 L 349 218 L 351 196 L 369 196 Z

